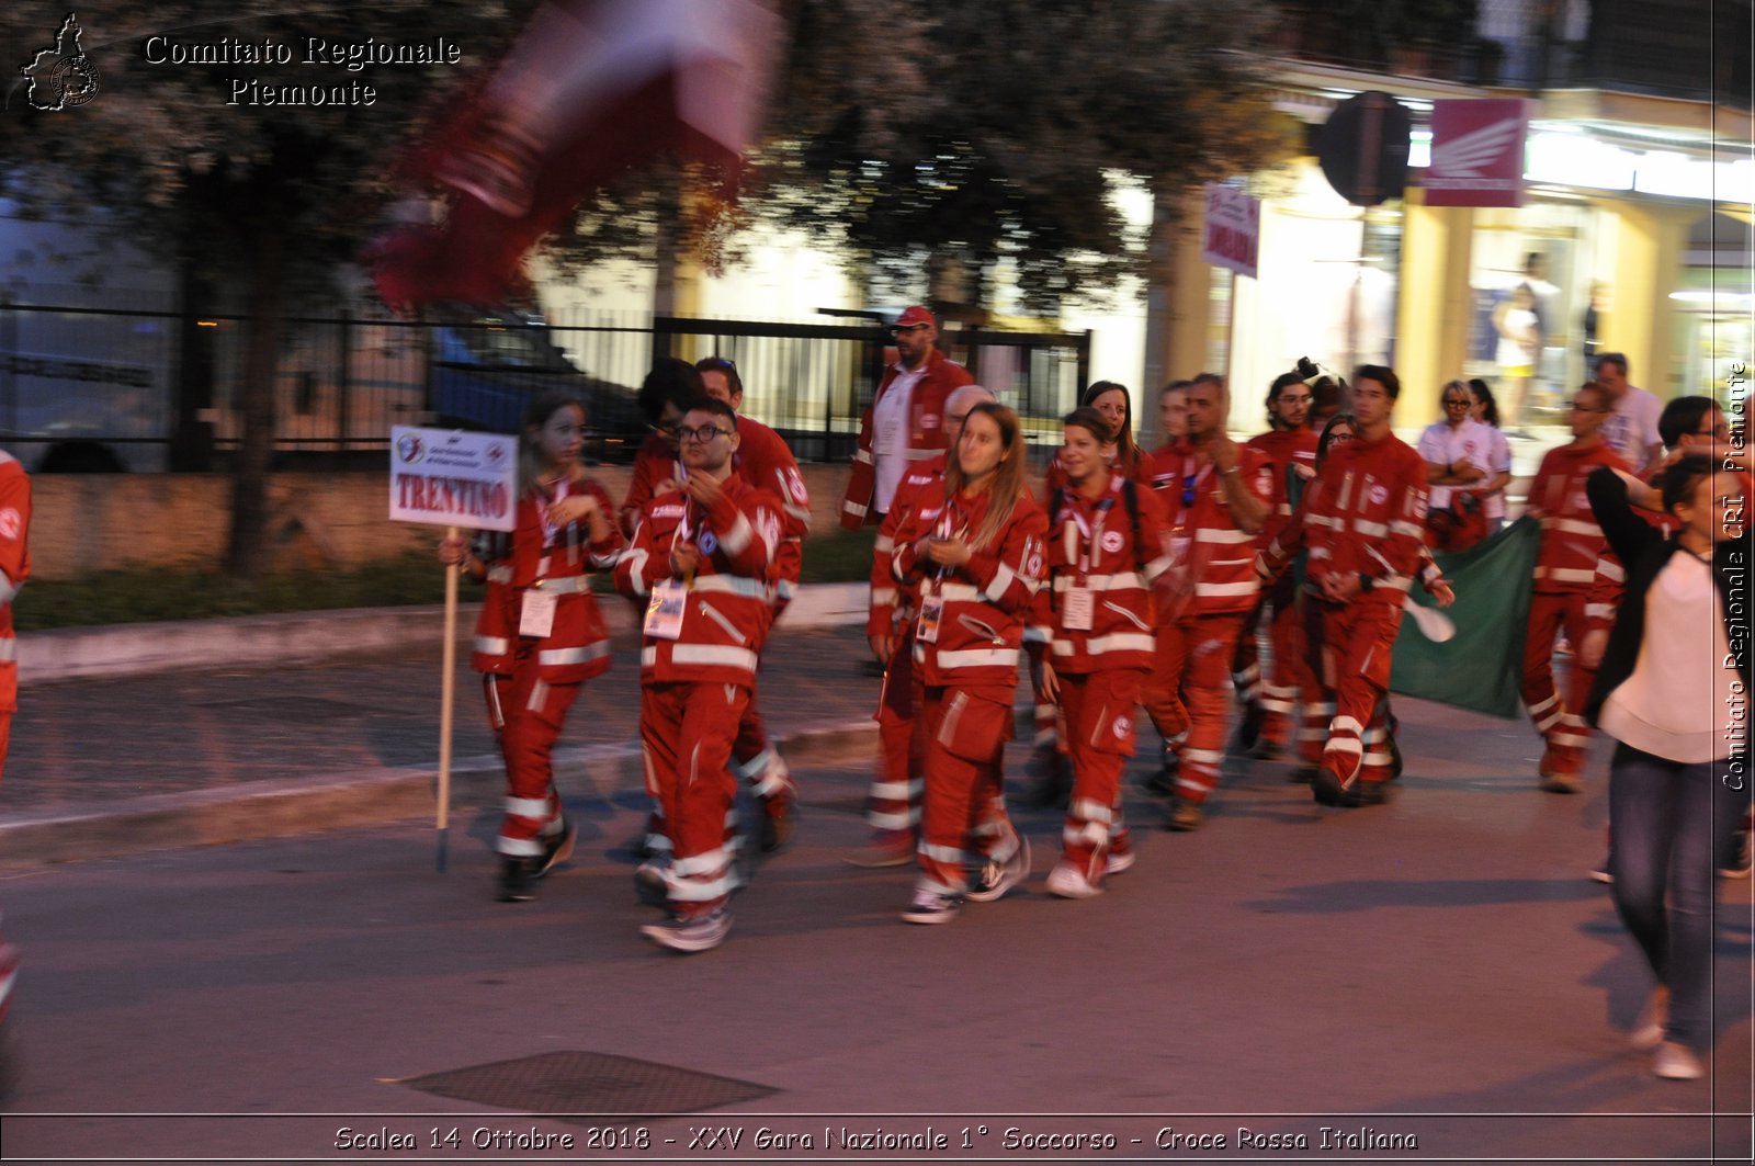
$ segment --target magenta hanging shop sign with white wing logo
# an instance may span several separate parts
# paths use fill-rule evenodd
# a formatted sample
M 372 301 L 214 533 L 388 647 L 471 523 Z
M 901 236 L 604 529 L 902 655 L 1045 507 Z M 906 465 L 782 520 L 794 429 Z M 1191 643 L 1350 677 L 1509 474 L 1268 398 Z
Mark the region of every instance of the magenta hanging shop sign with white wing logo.
M 1522 207 L 1523 98 L 1432 102 L 1429 207 Z

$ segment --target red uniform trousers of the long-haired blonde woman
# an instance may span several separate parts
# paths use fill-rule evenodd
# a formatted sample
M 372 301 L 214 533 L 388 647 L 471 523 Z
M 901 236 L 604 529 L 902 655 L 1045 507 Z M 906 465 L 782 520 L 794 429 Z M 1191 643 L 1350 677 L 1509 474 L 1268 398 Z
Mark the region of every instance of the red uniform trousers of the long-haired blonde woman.
M 918 887 L 941 896 L 967 889 L 963 841 L 1004 862 L 1021 846 L 1006 813 L 1002 760 L 1016 685 L 944 685 L 925 690 L 927 795 L 916 859 Z

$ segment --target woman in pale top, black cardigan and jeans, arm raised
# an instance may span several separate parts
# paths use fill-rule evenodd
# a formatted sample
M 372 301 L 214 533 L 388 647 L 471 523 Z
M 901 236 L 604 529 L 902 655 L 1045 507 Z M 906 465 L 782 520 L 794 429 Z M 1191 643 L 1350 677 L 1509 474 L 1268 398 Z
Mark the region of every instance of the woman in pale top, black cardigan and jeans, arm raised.
M 1658 1076 L 1701 1076 L 1711 1045 L 1715 871 L 1748 803 L 1748 651 L 1741 611 L 1744 504 L 1739 474 L 1688 455 L 1664 471 L 1665 537 L 1636 516 L 1627 481 L 1595 471 L 1585 492 L 1627 590 L 1601 651 L 1585 716 L 1618 741 L 1609 762 L 1615 908 L 1657 976 L 1634 1045 Z M 1741 616 L 1737 616 L 1741 618 Z M 1736 650 L 1732 650 L 1736 644 Z

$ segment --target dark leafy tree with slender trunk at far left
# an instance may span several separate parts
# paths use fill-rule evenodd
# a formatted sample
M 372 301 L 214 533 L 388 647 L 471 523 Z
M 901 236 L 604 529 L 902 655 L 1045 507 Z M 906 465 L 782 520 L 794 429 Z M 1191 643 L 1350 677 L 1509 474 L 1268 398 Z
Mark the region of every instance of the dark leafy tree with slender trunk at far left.
M 286 309 L 333 295 L 339 265 L 358 256 L 398 197 L 398 149 L 419 137 L 437 100 L 500 56 L 532 7 L 125 0 L 82 25 L 102 86 L 95 100 L 49 112 L 12 84 L 0 116 L 11 197 L 39 212 L 107 207 L 135 246 L 242 297 L 249 334 L 228 574 L 249 578 L 263 564 Z M 63 5 L 14 0 L 0 14 L 0 44 L 53 42 L 63 18 Z M 456 46 L 456 63 L 435 37 Z M 425 47 L 437 60 L 374 63 L 384 46 Z M 269 51 L 286 60 L 261 60 Z

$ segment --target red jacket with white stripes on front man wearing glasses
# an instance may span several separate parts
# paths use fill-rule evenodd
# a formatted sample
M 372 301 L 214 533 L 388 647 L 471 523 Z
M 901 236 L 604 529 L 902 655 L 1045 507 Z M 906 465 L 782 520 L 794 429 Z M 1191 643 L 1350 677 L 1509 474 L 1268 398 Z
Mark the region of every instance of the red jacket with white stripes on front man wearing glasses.
M 670 492 L 646 504 L 634 543 L 616 564 L 616 588 L 646 599 L 670 578 L 670 548 L 693 543 L 700 565 L 688 581 L 681 634 L 646 636 L 644 683 L 732 683 L 753 687 L 756 657 L 774 622 L 774 571 L 783 504 L 737 474 L 720 483 L 711 511 Z

